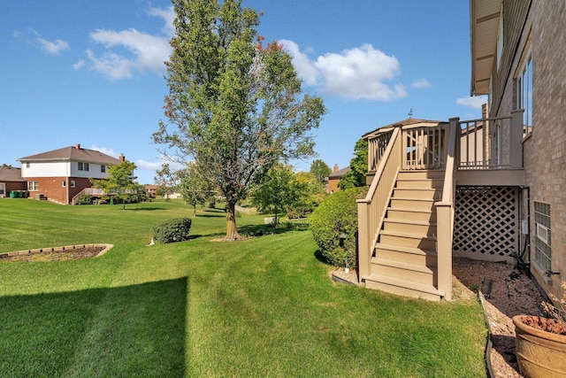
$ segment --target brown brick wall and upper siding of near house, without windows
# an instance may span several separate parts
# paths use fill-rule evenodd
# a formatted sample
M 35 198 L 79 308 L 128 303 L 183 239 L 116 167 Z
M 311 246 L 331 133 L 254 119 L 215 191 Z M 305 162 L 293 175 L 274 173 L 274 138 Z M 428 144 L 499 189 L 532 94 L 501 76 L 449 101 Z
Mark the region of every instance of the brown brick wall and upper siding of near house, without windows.
M 524 140 L 524 177 L 528 201 L 522 201 L 523 220 L 529 220 L 532 273 L 548 292 L 562 296 L 566 281 L 566 2 L 554 0 L 505 1 L 507 43 L 499 75 L 493 70 L 492 116 L 507 115 L 515 104 L 517 69 L 528 37 L 532 37 L 532 135 Z M 507 24 L 509 22 L 509 24 Z M 504 32 L 505 33 L 505 32 Z M 552 270 L 550 278 L 533 263 L 534 202 L 550 204 Z

